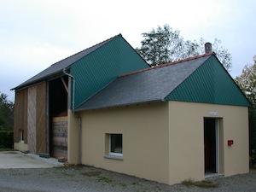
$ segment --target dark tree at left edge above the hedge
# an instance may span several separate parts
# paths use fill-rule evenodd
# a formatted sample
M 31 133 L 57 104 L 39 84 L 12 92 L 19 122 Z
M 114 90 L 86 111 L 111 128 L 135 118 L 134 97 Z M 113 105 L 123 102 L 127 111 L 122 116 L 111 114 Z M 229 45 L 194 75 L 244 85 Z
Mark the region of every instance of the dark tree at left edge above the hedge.
M 7 100 L 7 95 L 0 92 L 0 130 L 13 130 L 14 103 Z

